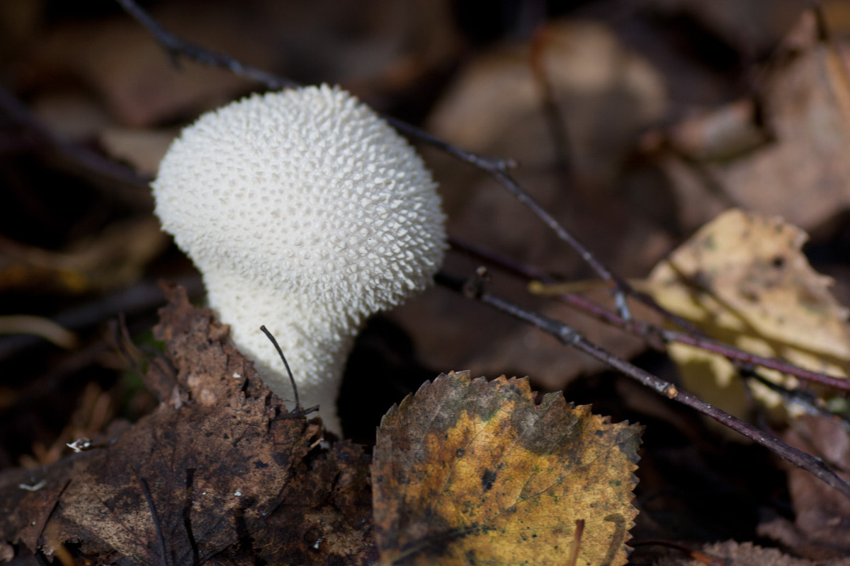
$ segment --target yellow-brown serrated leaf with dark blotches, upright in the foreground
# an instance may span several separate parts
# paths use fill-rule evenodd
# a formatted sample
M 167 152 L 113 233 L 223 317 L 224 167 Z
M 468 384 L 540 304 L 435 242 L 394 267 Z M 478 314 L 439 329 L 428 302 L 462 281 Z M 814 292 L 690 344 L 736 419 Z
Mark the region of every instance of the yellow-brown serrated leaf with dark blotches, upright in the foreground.
M 372 464 L 386 564 L 626 563 L 640 428 L 527 379 L 450 373 L 383 418 Z

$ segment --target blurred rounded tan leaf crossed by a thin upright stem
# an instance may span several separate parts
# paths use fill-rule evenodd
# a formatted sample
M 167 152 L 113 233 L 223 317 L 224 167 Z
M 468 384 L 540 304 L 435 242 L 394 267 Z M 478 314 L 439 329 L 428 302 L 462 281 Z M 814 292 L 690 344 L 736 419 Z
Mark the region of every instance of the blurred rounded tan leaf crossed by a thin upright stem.
M 540 64 L 564 116 L 570 161 L 582 176 L 609 178 L 635 133 L 663 114 L 661 77 L 606 25 L 556 20 L 545 33 Z M 429 129 L 462 148 L 551 166 L 554 148 L 532 48 L 502 47 L 474 60 L 440 101 Z

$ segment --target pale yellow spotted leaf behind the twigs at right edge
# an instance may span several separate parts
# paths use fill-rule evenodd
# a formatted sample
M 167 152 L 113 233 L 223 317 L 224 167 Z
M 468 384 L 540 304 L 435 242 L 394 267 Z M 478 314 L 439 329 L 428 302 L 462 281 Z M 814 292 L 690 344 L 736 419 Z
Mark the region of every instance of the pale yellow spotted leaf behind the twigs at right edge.
M 808 264 L 801 251 L 805 240 L 802 230 L 779 219 L 728 210 L 655 266 L 648 290 L 711 338 L 847 376 L 847 309 L 830 293 L 830 277 Z M 689 389 L 743 414 L 745 395 L 731 362 L 686 345 L 671 345 L 670 354 Z M 785 387 L 798 385 L 791 376 L 759 372 Z M 781 398 L 771 389 L 758 383 L 752 389 L 768 406 L 779 405 Z

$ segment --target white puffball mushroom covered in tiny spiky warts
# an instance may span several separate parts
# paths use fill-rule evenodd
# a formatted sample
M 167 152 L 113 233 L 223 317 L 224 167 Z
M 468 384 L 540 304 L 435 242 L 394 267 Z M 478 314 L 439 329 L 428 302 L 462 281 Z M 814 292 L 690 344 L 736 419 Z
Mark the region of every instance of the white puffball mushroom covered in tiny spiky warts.
M 409 143 L 337 87 L 254 95 L 195 121 L 152 183 L 156 215 L 269 388 L 336 399 L 365 318 L 424 289 L 446 248 L 436 184 Z

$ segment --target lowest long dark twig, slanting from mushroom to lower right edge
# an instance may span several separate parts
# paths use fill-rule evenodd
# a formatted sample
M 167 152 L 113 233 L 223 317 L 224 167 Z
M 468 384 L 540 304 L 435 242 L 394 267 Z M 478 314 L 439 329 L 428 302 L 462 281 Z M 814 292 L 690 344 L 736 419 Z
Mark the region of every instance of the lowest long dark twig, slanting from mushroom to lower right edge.
M 438 273 L 436 277 L 437 283 L 448 289 L 452 289 L 458 293 L 463 293 L 464 285 L 467 279 L 455 277 L 445 273 Z M 768 434 L 762 430 L 754 428 L 751 424 L 745 423 L 738 417 L 734 417 L 728 412 L 721 411 L 716 406 L 712 406 L 706 401 L 702 401 L 699 397 L 690 395 L 684 391 L 680 391 L 675 385 L 664 381 L 655 375 L 644 371 L 640 367 L 633 366 L 628 361 L 615 356 L 611 352 L 600 348 L 598 345 L 588 341 L 580 333 L 575 332 L 572 328 L 563 322 L 556 321 L 552 318 L 544 317 L 536 312 L 528 311 L 519 305 L 515 305 L 500 297 L 482 291 L 475 297 L 484 305 L 489 305 L 497 311 L 504 312 L 511 317 L 518 318 L 530 325 L 539 328 L 543 332 L 552 335 L 564 345 L 573 346 L 577 350 L 581 350 L 599 361 L 603 361 L 609 367 L 613 367 L 629 378 L 635 379 L 640 384 L 655 390 L 660 395 L 666 396 L 668 399 L 689 406 L 697 412 L 700 412 L 706 417 L 716 420 L 729 429 L 742 434 L 746 438 L 765 446 L 774 454 L 791 462 L 798 468 L 802 468 L 813 474 L 815 477 L 830 485 L 835 490 L 840 491 L 844 496 L 850 498 L 850 483 L 847 483 L 830 468 L 827 468 L 824 462 L 817 457 L 813 457 L 804 451 L 798 450 L 793 446 L 788 446 L 782 440 L 779 440 L 772 434 Z

